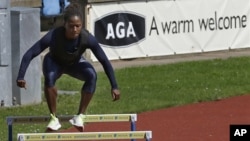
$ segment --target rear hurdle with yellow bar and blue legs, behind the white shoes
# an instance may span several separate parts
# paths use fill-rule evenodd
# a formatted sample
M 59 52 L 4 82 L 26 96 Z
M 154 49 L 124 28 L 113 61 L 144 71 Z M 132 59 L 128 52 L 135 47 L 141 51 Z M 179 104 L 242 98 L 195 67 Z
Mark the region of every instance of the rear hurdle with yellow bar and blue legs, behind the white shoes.
M 61 122 L 68 122 L 72 115 L 58 116 Z M 50 116 L 9 116 L 6 118 L 8 125 L 8 141 L 13 141 L 13 124 L 44 123 L 50 120 Z M 84 122 L 130 122 L 131 131 L 136 131 L 137 114 L 102 114 L 85 115 Z M 133 141 L 133 140 L 132 140 Z

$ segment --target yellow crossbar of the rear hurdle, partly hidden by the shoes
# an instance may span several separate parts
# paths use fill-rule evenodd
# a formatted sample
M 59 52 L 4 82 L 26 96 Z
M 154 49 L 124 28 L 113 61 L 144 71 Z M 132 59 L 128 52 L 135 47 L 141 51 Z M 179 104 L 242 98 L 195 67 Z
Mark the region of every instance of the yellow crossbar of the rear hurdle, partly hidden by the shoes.
M 68 122 L 73 116 L 58 116 L 61 122 Z M 49 116 L 10 116 L 11 123 L 43 123 L 50 120 Z M 121 122 L 121 121 L 137 121 L 137 114 L 100 114 L 85 115 L 84 122 Z

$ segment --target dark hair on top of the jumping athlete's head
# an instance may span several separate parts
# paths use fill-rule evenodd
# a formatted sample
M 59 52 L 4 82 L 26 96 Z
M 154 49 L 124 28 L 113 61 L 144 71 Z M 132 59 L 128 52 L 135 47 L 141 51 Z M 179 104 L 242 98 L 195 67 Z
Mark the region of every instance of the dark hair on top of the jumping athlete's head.
M 64 22 L 67 22 L 72 16 L 78 16 L 81 21 L 83 22 L 83 11 L 82 6 L 76 2 L 70 3 L 65 9 L 64 9 Z

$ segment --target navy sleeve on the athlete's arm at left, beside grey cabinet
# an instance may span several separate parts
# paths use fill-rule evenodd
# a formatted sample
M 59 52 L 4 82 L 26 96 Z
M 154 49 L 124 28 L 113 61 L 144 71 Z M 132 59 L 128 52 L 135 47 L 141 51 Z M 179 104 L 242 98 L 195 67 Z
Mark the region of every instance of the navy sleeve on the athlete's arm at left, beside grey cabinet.
M 23 80 L 27 68 L 33 58 L 43 52 L 48 46 L 52 38 L 52 31 L 48 32 L 43 38 L 38 40 L 27 52 L 23 55 L 19 68 L 17 80 Z

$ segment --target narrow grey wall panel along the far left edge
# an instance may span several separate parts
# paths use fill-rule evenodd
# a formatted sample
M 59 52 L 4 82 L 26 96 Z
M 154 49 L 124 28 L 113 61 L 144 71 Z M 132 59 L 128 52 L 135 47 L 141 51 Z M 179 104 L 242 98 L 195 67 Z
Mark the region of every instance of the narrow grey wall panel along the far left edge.
M 1 1 L 0 9 L 0 101 L 1 106 L 11 105 L 11 31 L 9 1 Z

